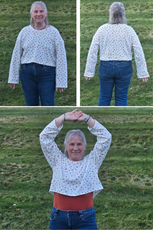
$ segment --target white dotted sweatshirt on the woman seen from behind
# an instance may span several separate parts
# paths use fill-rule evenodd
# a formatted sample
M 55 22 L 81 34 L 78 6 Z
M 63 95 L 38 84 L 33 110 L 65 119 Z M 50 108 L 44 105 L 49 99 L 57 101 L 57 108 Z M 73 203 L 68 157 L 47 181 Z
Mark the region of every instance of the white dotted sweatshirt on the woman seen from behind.
M 97 54 L 101 61 L 131 61 L 134 49 L 138 78 L 149 77 L 139 38 L 126 24 L 104 24 L 95 33 L 89 49 L 84 76 L 94 77 Z

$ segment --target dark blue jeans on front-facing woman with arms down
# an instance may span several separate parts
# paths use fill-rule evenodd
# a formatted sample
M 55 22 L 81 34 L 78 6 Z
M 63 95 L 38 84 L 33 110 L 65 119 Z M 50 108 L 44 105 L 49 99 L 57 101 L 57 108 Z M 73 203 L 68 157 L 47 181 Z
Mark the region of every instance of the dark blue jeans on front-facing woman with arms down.
M 22 64 L 20 79 L 26 106 L 54 106 L 55 67 L 35 63 Z

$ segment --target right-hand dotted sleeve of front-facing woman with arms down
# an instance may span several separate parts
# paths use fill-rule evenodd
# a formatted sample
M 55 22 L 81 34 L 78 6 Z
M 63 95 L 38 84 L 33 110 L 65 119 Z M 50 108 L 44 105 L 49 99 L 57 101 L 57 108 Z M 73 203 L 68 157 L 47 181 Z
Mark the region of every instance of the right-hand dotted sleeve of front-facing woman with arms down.
M 56 87 L 67 88 L 67 58 L 64 41 L 61 35 L 56 35 Z

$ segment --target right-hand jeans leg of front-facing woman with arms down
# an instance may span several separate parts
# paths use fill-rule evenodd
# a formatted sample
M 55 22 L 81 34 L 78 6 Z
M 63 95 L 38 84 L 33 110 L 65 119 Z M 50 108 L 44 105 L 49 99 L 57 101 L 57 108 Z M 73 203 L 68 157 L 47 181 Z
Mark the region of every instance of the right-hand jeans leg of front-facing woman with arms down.
M 55 67 L 39 66 L 38 72 L 38 91 L 42 106 L 54 106 L 55 97 Z

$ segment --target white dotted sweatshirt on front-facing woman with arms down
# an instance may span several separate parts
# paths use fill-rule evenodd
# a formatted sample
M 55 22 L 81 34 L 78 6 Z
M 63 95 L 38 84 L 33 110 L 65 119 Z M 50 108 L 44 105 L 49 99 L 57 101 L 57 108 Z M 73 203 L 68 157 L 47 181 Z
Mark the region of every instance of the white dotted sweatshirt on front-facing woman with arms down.
M 56 87 L 67 88 L 66 51 L 55 27 L 36 30 L 29 25 L 21 30 L 12 54 L 8 83 L 19 84 L 20 64 L 31 62 L 56 67 Z

